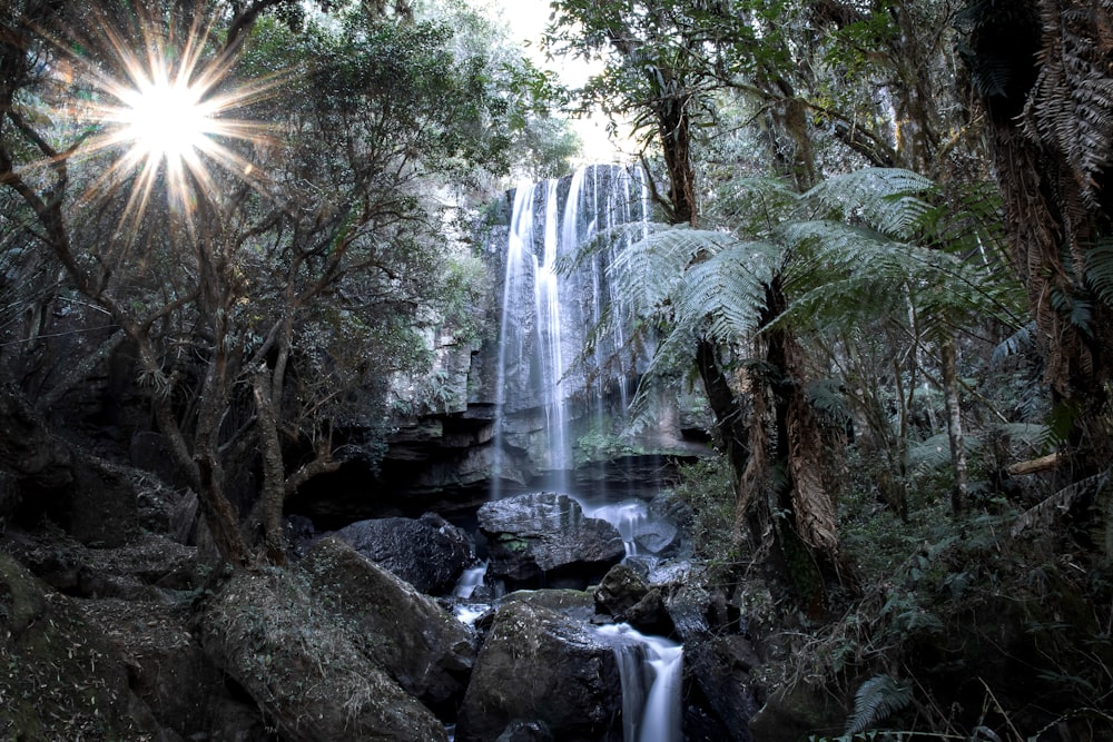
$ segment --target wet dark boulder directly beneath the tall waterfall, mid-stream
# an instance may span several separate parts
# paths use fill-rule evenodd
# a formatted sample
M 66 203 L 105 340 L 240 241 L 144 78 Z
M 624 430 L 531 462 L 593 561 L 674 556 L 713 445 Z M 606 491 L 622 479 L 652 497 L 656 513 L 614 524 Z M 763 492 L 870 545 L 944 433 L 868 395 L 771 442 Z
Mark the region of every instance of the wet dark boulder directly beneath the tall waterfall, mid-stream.
M 583 588 L 626 555 L 618 530 L 584 516 L 568 495 L 508 497 L 487 503 L 477 515 L 487 540 L 487 578 L 501 580 L 511 590 Z

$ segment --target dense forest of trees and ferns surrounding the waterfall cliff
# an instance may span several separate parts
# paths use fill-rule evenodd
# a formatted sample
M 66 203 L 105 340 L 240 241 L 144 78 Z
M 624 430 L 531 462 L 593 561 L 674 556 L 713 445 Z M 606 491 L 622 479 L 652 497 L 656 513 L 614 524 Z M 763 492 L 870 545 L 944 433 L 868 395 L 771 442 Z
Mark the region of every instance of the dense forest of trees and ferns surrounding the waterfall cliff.
M 582 89 L 451 0 L 0 0 L 8 530 L 125 542 L 165 475 L 204 591 L 289 568 L 290 499 L 492 332 L 485 207 L 607 116 L 653 184 L 641 384 L 710 409 L 674 496 L 786 714 L 754 739 L 1111 739 L 1113 3 L 551 11 Z M 137 133 L 152 68 L 204 130 Z

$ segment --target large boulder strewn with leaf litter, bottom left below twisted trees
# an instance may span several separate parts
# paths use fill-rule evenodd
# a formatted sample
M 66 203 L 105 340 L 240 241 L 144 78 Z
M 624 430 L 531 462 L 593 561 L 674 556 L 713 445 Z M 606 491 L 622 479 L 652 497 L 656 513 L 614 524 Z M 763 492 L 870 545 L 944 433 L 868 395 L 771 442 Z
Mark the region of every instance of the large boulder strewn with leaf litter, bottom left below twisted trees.
M 209 604 L 205 651 L 290 742 L 446 742 L 444 725 L 289 570 L 242 571 Z

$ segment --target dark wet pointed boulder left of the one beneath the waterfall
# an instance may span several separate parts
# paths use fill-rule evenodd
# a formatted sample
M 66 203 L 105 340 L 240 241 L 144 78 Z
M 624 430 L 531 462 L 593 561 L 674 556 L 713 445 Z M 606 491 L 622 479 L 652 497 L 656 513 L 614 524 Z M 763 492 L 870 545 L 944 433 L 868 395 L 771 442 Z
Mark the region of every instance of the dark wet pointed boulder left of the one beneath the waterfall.
M 475 561 L 467 533 L 440 515 L 358 521 L 333 534 L 423 593 L 452 591 Z

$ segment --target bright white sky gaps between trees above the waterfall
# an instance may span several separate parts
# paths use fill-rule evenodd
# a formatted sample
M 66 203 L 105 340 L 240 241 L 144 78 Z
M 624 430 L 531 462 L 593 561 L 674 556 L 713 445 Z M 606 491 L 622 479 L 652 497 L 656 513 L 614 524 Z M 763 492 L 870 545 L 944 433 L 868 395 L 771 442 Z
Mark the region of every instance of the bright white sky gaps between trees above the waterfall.
M 477 0 L 476 4 L 490 8 L 492 17 L 504 20 L 510 26 L 511 36 L 518 41 L 529 41 L 526 52 L 543 69 L 555 71 L 564 85 L 583 85 L 592 72 L 592 67 L 579 59 L 546 60 L 541 49 L 541 37 L 552 10 L 549 0 Z M 594 119 L 577 119 L 572 128 L 583 140 L 583 159 L 587 162 L 610 162 L 626 160 L 628 156 L 618 151 L 607 137 L 607 121 L 602 115 Z

